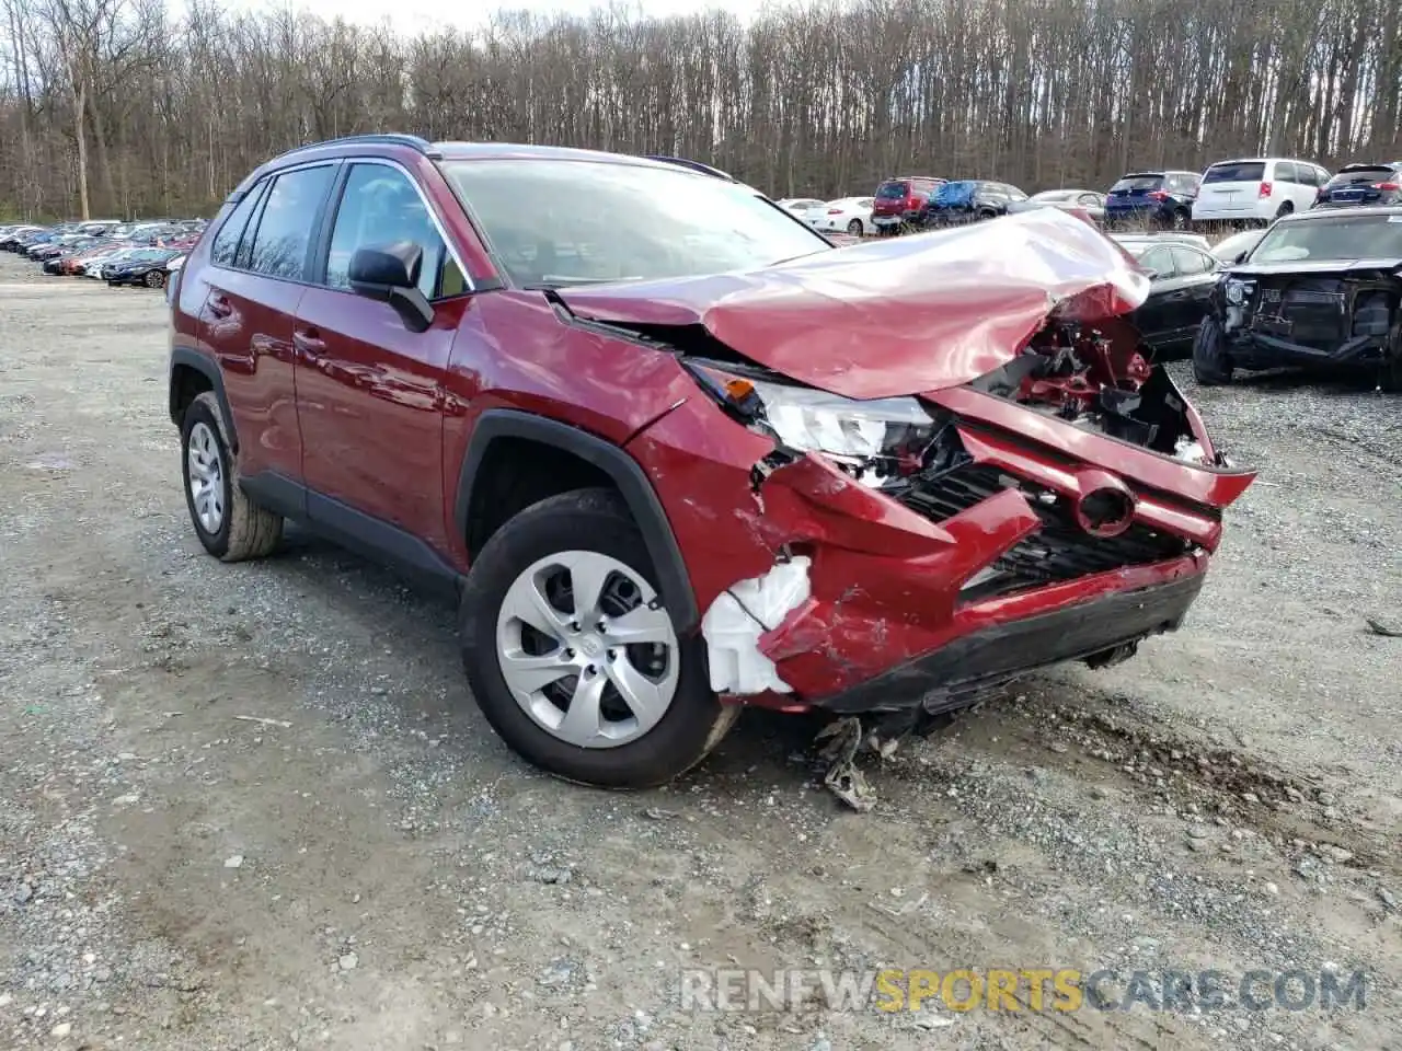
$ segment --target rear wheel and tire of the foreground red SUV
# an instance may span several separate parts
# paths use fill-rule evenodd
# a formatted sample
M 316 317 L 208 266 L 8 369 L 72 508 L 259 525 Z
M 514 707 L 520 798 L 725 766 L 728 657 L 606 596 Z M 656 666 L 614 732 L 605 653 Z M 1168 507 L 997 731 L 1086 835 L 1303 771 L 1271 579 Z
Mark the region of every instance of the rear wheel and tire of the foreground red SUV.
M 205 551 L 223 562 L 271 555 L 282 541 L 282 516 L 259 507 L 236 483 L 237 458 L 219 399 L 205 391 L 181 423 L 185 506 Z

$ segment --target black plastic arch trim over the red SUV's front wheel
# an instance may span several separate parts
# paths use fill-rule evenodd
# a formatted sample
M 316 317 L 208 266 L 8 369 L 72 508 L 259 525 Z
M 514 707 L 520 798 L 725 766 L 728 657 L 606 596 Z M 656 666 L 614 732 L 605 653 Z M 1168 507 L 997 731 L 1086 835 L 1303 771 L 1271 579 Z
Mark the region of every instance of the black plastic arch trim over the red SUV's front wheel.
M 607 474 L 642 533 L 648 555 L 658 572 L 662 600 L 667 607 L 679 635 L 688 633 L 701 621 L 691 577 L 687 573 L 681 548 L 672 531 L 667 513 L 646 472 L 628 453 L 604 439 L 559 420 L 536 416 L 517 409 L 488 409 L 477 419 L 468 440 L 467 454 L 458 472 L 457 496 L 453 502 L 453 521 L 460 537 L 467 537 L 467 516 L 472 502 L 472 485 L 498 439 L 527 439 L 571 453 Z

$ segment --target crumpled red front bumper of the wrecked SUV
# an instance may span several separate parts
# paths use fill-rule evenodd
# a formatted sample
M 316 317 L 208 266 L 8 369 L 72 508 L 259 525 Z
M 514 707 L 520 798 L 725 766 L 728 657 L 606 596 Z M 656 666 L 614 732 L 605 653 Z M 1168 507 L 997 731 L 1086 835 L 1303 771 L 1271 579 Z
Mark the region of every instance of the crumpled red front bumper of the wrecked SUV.
M 928 399 L 955 413 L 976 471 L 1012 475 L 1053 502 L 1113 471 L 1137 497 L 1133 533 L 1103 544 L 1073 537 L 1026 490 L 973 481 L 966 499 L 951 490 L 938 503 L 897 502 L 815 455 L 756 481 L 774 444 L 687 399 L 628 450 L 658 488 L 698 607 L 763 577 L 782 551 L 810 559 L 809 597 L 757 636 L 791 692 L 737 699 L 795 710 L 948 708 L 1047 664 L 1172 631 L 1220 541 L 1220 507 L 1252 478 L 972 390 Z M 997 580 L 981 583 L 990 572 Z

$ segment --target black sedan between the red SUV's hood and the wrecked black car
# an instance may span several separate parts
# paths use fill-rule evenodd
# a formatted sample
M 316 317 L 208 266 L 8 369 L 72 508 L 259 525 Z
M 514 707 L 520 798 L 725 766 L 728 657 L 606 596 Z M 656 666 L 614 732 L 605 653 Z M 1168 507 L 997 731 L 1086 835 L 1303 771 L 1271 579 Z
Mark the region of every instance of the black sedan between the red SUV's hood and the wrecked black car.
M 1211 307 L 1220 261 L 1190 237 L 1117 237 L 1150 279 L 1148 298 L 1130 321 L 1154 352 L 1152 360 L 1186 357 L 1197 325 Z

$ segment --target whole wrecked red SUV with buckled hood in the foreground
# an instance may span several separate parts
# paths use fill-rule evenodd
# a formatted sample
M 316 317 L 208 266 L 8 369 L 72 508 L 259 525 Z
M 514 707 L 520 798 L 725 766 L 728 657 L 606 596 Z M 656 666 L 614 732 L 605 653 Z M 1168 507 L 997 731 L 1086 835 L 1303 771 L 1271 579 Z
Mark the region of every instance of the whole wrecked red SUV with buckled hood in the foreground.
M 890 736 L 1175 628 L 1252 475 L 1147 293 L 1056 209 L 834 248 L 670 160 L 362 136 L 191 251 L 170 412 L 212 555 L 290 518 L 454 589 L 501 736 L 641 786 L 744 703 Z

